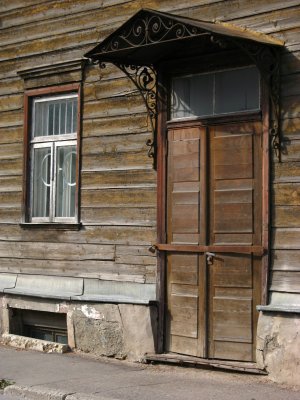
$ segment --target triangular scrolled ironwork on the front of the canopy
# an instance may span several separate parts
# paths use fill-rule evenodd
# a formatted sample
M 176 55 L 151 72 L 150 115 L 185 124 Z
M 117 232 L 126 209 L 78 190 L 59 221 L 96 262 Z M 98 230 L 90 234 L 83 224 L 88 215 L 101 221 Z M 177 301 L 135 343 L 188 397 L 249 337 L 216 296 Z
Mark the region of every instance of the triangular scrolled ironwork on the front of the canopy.
M 104 41 L 97 54 L 107 54 L 128 48 L 185 39 L 205 34 L 199 27 L 147 11 L 140 12 L 132 24 L 126 24 L 118 35 Z

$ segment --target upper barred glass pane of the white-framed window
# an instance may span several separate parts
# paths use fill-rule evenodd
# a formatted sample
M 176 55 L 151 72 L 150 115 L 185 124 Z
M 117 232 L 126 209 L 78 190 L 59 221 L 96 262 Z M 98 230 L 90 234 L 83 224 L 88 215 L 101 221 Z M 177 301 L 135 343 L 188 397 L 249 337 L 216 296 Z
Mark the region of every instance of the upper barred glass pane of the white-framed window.
M 37 100 L 33 136 L 63 135 L 77 131 L 77 98 Z

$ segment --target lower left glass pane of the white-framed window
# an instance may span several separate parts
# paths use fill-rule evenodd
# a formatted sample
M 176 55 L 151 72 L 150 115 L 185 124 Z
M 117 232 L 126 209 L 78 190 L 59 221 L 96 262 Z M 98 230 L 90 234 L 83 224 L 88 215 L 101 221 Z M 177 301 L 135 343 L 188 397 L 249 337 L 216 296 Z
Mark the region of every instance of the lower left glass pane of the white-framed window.
M 51 148 L 34 149 L 32 217 L 49 217 L 51 186 Z

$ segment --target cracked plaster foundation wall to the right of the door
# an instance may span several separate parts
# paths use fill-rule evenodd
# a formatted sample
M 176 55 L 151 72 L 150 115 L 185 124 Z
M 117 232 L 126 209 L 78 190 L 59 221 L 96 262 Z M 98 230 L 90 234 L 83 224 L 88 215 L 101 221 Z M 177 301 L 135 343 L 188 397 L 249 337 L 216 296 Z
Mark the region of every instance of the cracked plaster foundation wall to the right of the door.
M 300 386 L 300 315 L 260 312 L 257 363 L 277 383 Z

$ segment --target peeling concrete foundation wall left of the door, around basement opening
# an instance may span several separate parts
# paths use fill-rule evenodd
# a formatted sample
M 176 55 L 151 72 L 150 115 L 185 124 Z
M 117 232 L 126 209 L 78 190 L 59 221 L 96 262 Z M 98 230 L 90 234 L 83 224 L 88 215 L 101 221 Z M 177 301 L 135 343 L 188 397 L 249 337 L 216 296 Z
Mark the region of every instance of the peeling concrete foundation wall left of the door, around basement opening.
M 10 333 L 12 309 L 64 313 L 68 344 L 84 352 L 140 361 L 155 352 L 155 306 L 134 304 L 77 303 L 24 297 L 0 298 L 0 332 Z M 2 321 L 2 322 L 1 322 Z M 3 342 L 7 342 L 4 340 Z

